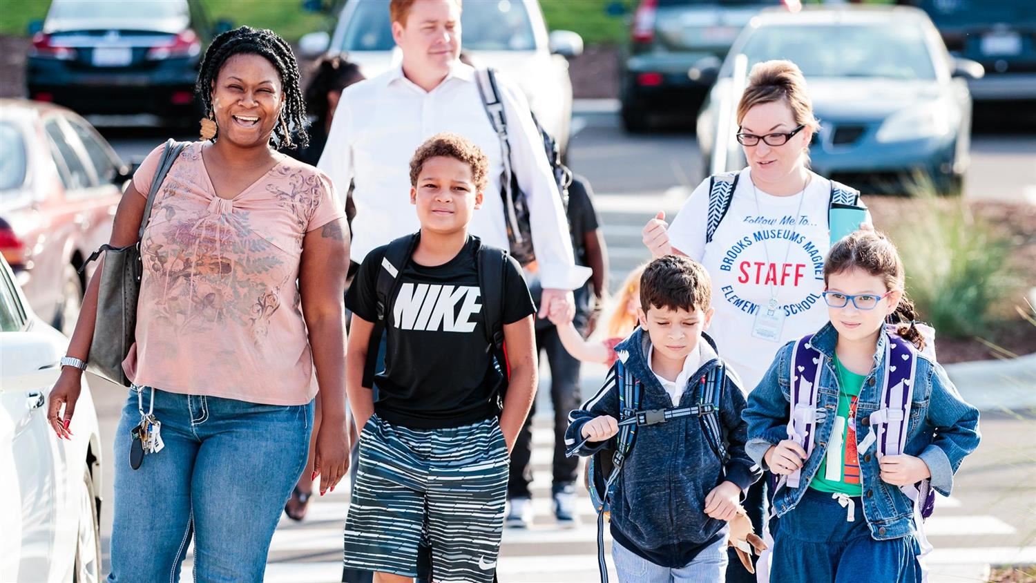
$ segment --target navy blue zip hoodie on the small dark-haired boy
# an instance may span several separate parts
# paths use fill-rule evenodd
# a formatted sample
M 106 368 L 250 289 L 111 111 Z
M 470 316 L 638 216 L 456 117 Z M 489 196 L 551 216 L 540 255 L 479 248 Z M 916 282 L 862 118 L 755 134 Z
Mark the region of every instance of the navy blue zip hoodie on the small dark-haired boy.
M 701 337 L 701 367 L 691 376 L 680 399 L 680 407 L 694 405 L 698 393 L 695 383 L 721 361 L 715 344 Z M 669 409 L 672 401 L 652 373 L 648 362 L 651 339 L 637 328 L 615 347 L 626 356 L 627 370 L 640 381 L 640 409 Z M 698 417 L 688 416 L 637 429 L 636 440 L 623 465 L 611 498 L 611 535 L 623 547 L 663 566 L 686 566 L 703 547 L 726 534 L 726 522 L 704 513 L 704 500 L 716 486 L 732 482 L 744 492 L 761 475 L 761 470 L 745 453 L 748 426 L 741 418 L 745 393 L 741 381 L 727 369 L 726 383 L 720 398 L 720 426 L 728 443 L 729 460 L 723 465 L 709 445 Z M 570 446 L 583 441 L 582 426 L 601 415 L 618 413 L 618 384 L 615 368 L 604 386 L 569 415 L 565 441 Z M 615 439 L 588 442 L 580 456 L 592 456 L 605 446 L 614 447 Z

